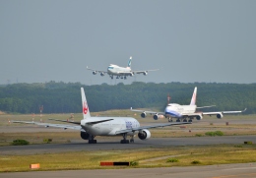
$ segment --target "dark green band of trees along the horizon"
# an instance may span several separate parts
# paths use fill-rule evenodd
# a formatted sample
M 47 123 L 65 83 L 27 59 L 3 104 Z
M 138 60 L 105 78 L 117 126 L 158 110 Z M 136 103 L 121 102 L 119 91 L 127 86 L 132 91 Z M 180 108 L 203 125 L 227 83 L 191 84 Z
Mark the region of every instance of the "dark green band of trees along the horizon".
M 85 86 L 80 83 L 49 82 L 0 86 L 0 110 L 12 113 L 78 113 L 82 111 L 80 88 L 86 92 L 90 110 L 155 108 L 164 109 L 169 93 L 170 102 L 189 104 L 195 87 L 197 105 L 217 105 L 211 110 L 240 110 L 256 113 L 256 84 L 220 83 L 119 83 Z

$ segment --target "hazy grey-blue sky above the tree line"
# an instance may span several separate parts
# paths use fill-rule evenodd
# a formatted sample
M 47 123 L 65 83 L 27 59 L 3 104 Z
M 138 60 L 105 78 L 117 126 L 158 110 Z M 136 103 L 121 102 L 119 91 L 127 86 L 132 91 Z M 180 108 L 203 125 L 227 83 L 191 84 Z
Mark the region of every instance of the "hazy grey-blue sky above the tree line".
M 256 82 L 256 1 L 0 1 L 0 84 Z M 155 69 L 111 81 L 87 66 Z

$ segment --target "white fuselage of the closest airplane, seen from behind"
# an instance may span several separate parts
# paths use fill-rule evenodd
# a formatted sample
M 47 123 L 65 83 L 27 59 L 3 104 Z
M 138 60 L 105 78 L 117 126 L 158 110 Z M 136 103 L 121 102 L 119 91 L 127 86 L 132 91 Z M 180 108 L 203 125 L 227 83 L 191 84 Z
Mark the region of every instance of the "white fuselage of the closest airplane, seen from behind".
M 90 122 L 108 119 L 112 120 L 93 125 L 88 124 Z M 93 117 L 81 120 L 81 126 L 87 133 L 94 136 L 116 136 L 116 131 L 140 127 L 140 123 L 132 117 Z M 127 133 L 127 135 L 132 136 L 136 133 L 131 132 Z

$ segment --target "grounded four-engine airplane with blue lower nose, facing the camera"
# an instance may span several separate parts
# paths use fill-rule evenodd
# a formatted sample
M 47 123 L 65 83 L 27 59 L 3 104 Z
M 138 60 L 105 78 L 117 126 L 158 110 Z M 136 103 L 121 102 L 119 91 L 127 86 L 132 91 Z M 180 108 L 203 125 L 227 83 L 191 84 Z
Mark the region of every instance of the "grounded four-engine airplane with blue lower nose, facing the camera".
M 172 118 L 176 118 L 176 122 L 180 122 L 181 120 L 183 122 L 187 122 L 187 121 L 192 122 L 192 119 L 194 118 L 196 118 L 197 120 L 203 119 L 204 115 L 210 115 L 210 116 L 216 115 L 218 119 L 221 119 L 224 117 L 224 114 L 241 113 L 246 110 L 245 108 L 244 110 L 241 110 L 241 111 L 197 112 L 196 109 L 198 108 L 213 107 L 215 105 L 197 107 L 196 97 L 197 97 L 197 88 L 194 89 L 190 105 L 179 105 L 177 103 L 168 103 L 164 109 L 164 112 L 136 110 L 136 109 L 132 109 L 132 107 L 131 107 L 131 111 L 142 112 L 141 114 L 142 118 L 145 118 L 147 114 L 151 114 L 151 115 L 154 115 L 153 118 L 155 120 L 158 120 L 160 115 L 162 115 L 168 119 L 168 122 L 172 122 Z

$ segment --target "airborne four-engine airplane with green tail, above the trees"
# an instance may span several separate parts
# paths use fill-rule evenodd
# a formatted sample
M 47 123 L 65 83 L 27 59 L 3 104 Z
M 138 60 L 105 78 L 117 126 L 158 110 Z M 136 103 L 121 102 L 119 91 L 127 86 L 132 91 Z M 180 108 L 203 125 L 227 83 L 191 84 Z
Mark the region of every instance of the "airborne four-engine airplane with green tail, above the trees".
M 110 64 L 107 67 L 107 71 L 100 71 L 96 69 L 91 69 L 87 66 L 88 70 L 93 71 L 93 74 L 96 75 L 96 73 L 99 73 L 100 76 L 104 76 L 105 74 L 108 74 L 111 79 L 116 76 L 116 79 L 127 79 L 127 76 L 134 76 L 135 74 L 143 74 L 144 76 L 147 76 L 150 71 L 158 71 L 159 69 L 151 69 L 151 70 L 142 70 L 142 71 L 132 71 L 131 69 L 132 65 L 132 56 L 130 57 L 128 61 L 127 67 L 120 67 L 115 64 Z

